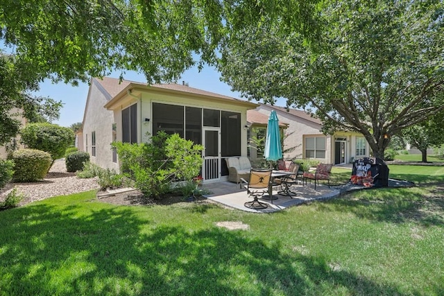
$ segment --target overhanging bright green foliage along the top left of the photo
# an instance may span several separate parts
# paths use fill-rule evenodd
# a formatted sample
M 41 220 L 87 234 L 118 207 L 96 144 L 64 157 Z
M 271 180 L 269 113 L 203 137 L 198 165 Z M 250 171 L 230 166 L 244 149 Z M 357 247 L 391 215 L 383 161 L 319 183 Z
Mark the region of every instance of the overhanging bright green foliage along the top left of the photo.
M 0 39 L 30 64 L 28 71 L 74 82 L 135 70 L 148 82 L 177 80 L 194 64 L 264 16 L 284 29 L 313 35 L 316 1 L 3 1 Z

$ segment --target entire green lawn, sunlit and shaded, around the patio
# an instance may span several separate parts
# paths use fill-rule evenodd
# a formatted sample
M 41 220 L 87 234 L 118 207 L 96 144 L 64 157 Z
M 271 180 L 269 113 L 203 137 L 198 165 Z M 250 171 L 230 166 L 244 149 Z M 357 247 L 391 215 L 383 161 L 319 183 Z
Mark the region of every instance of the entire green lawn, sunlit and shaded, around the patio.
M 420 186 L 275 214 L 93 191 L 1 211 L 0 295 L 443 295 L 443 170 L 390 166 Z

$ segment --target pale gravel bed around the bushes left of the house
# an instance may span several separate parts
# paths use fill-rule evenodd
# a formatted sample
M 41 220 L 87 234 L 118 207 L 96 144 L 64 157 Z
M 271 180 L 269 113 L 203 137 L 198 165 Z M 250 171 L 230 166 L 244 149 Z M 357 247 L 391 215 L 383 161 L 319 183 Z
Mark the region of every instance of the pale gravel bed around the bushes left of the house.
M 24 195 L 24 200 L 19 205 L 28 204 L 37 200 L 44 200 L 58 195 L 69 195 L 99 189 L 96 177 L 81 179 L 75 173 L 67 173 L 65 159 L 54 162 L 51 170 L 41 182 L 34 183 L 10 183 L 0 191 L 0 200 L 4 200 L 6 194 L 13 188 Z

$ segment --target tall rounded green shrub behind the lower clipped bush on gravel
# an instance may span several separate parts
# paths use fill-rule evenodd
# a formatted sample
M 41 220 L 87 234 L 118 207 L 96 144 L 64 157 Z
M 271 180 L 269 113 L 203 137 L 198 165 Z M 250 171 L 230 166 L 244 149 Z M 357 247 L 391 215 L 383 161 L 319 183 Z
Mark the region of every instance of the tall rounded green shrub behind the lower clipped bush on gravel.
M 74 141 L 70 128 L 51 123 L 31 123 L 22 130 L 22 143 L 28 148 L 46 151 L 53 160 L 65 156 L 65 151 Z

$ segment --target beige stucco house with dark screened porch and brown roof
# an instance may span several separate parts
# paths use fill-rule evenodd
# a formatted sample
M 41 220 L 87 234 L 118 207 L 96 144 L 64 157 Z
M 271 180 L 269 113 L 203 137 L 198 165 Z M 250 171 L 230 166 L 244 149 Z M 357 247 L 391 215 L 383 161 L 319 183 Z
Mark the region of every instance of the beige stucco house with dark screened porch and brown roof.
M 119 171 L 112 141 L 144 143 L 160 130 L 178 133 L 205 147 L 205 181 L 221 180 L 228 176 L 226 157 L 247 155 L 246 112 L 255 107 L 186 85 L 92 78 L 77 145 L 91 162 Z

